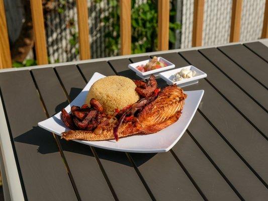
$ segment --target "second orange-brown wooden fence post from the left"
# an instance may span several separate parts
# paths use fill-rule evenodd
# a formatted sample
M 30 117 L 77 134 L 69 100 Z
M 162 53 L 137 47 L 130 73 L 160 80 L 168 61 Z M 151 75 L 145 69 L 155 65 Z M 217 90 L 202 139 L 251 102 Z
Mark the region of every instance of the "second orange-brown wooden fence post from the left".
M 42 0 L 30 0 L 37 64 L 48 64 Z

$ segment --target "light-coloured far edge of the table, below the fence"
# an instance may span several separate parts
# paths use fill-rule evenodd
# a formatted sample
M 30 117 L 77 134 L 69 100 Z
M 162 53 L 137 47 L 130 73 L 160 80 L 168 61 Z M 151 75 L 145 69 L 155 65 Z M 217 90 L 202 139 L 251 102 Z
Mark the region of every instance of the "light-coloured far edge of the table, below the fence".
M 132 57 L 139 57 L 139 56 L 148 56 L 154 54 L 165 54 L 165 53 L 172 53 L 172 52 L 184 52 L 189 50 L 199 50 L 199 49 L 206 49 L 206 48 L 213 48 L 213 47 L 222 47 L 228 45 L 235 45 L 235 44 L 243 44 L 243 43 L 251 43 L 251 42 L 261 42 L 263 45 L 268 47 L 268 38 L 252 40 L 252 41 L 240 41 L 240 42 L 233 42 L 233 43 L 226 43 L 220 45 L 209 45 L 209 46 L 198 46 L 198 47 L 191 47 L 185 49 L 173 49 L 173 50 L 164 50 L 164 51 L 155 51 L 155 52 L 145 52 L 140 54 L 130 54 L 130 55 L 122 55 L 122 56 L 112 56 L 112 57 L 103 57 L 97 59 L 87 59 L 87 60 L 79 60 L 79 61 L 69 61 L 63 63 L 52 63 L 52 64 L 45 64 L 45 65 L 36 65 L 30 67 L 21 67 L 21 68 L 5 68 L 0 69 L 1 72 L 10 72 L 10 71 L 18 71 L 18 70 L 31 70 L 31 69 L 39 69 L 39 68 L 47 68 L 47 67 L 56 67 L 56 66 L 67 66 L 67 65 L 77 65 L 82 63 L 92 63 L 98 61 L 111 61 L 116 59 L 125 59 L 125 58 L 132 58 Z

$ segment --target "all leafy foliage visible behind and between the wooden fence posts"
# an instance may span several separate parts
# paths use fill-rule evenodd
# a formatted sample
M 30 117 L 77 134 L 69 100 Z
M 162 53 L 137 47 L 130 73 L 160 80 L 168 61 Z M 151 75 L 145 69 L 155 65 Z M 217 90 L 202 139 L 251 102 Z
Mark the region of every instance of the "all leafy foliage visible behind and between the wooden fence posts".
M 116 56 L 120 53 L 120 7 L 119 0 L 107 1 L 109 11 L 104 13 L 104 16 L 99 16 L 100 21 L 106 27 L 105 32 L 105 48 L 108 50 L 108 55 Z M 157 51 L 157 0 L 147 0 L 146 3 L 138 4 L 138 1 L 132 0 L 131 3 L 131 35 L 132 53 L 143 53 Z M 169 49 L 172 49 L 176 38 L 175 31 L 181 30 L 181 25 L 175 22 L 176 1 L 170 0 L 169 11 Z M 94 4 L 102 4 L 102 0 L 94 0 Z M 72 8 L 74 5 L 68 3 L 67 0 L 44 0 L 44 13 L 54 11 L 59 15 L 64 16 L 68 12 L 67 8 Z M 28 8 L 28 5 L 26 5 Z M 75 48 L 75 55 L 79 54 L 78 49 L 78 33 L 74 17 L 63 18 L 65 21 L 64 29 L 70 33 L 70 38 L 67 43 L 70 47 Z M 31 21 L 31 19 L 29 20 Z M 46 24 L 48 26 L 48 23 Z M 52 25 L 50 25 L 52 26 Z M 54 27 L 52 27 L 54 28 Z M 55 29 L 55 28 L 54 28 Z M 31 30 L 32 31 L 32 30 Z M 34 48 L 34 47 L 33 47 Z M 59 62 L 59 59 L 54 59 L 53 63 Z M 49 61 L 50 63 L 50 61 Z M 37 65 L 35 59 L 25 59 L 22 61 L 14 60 L 13 67 L 24 67 Z

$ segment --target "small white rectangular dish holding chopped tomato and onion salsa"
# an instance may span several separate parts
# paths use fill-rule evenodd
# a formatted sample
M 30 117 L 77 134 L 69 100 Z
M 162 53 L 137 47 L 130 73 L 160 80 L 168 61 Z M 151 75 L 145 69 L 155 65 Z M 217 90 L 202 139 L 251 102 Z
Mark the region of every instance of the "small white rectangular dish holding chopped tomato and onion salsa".
M 157 60 L 158 61 L 163 61 L 164 63 L 167 64 L 167 66 L 165 67 L 162 67 L 162 68 L 158 68 L 158 69 L 155 69 L 155 70 L 149 70 L 149 71 L 146 71 L 146 72 L 141 72 L 137 69 L 138 66 L 140 65 L 146 65 L 146 63 L 148 63 L 151 59 L 147 59 L 147 60 L 144 60 L 144 61 L 140 61 L 140 62 L 136 62 L 136 63 L 131 63 L 128 65 L 128 67 L 133 70 L 134 72 L 136 72 L 136 74 L 142 78 L 142 79 L 146 79 L 146 78 L 149 78 L 151 74 L 153 74 L 154 76 L 158 76 L 159 72 L 162 72 L 162 71 L 165 71 L 165 70 L 168 70 L 168 69 L 171 69 L 171 68 L 174 68 L 175 65 L 169 61 L 167 61 L 166 59 L 164 59 L 163 57 L 157 57 Z

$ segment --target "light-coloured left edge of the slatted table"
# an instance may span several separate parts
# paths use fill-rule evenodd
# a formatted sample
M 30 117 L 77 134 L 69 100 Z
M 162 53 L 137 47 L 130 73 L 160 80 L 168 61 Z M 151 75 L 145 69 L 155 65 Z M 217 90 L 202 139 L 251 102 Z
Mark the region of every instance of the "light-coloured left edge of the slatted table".
M 0 146 L 11 200 L 25 200 L 0 94 Z

